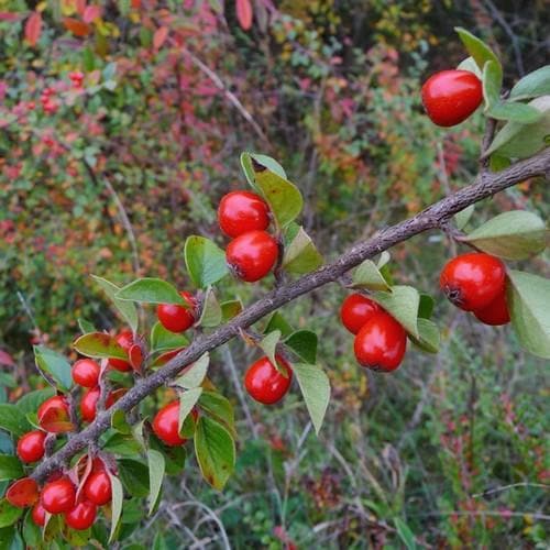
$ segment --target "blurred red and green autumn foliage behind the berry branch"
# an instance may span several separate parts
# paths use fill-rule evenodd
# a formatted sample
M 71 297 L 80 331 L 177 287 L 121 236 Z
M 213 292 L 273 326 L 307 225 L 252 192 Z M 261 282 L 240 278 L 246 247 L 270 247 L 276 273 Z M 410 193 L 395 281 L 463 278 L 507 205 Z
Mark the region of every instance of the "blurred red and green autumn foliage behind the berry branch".
M 476 173 L 482 117 L 442 131 L 419 101 L 427 75 L 465 57 L 453 26 L 491 43 L 507 85 L 548 63 L 544 0 L 253 0 L 251 29 L 243 3 L 0 0 L 0 351 L 13 375 L 1 399 L 40 384 L 32 343 L 67 350 L 80 317 L 120 327 L 90 273 L 188 286 L 185 238 L 223 244 L 216 208 L 245 186 L 241 151 L 280 161 L 332 258 Z M 548 198 L 525 184 L 473 222 L 546 217 Z M 437 234 L 397 246 L 394 278 L 432 290 L 450 250 Z M 548 258 L 528 268 L 548 273 Z M 270 283 L 223 293 L 250 301 Z M 544 547 L 542 362 L 439 297 L 441 353 L 366 376 L 337 322 L 343 296 L 324 288 L 284 311 L 320 337 L 333 386 L 320 439 L 297 396 L 242 398 L 234 372 L 254 355 L 233 342 L 211 376 L 237 405 L 238 474 L 220 495 L 189 463 L 154 529 L 128 520 L 124 548 Z

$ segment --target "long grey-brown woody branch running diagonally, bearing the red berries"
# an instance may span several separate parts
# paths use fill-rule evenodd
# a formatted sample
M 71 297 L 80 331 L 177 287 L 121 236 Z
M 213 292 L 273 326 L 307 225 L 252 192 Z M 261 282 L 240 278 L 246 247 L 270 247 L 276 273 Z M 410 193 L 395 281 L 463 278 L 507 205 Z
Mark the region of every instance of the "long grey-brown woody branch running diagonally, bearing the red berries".
M 509 168 L 495 174 L 479 175 L 474 183 L 459 191 L 431 205 L 408 220 L 382 230 L 377 235 L 353 246 L 336 262 L 300 277 L 299 279 L 275 288 L 264 298 L 249 306 L 231 321 L 218 328 L 210 334 L 198 336 L 194 342 L 172 359 L 165 366 L 136 382 L 119 402 L 109 410 L 99 413 L 96 420 L 86 429 L 76 433 L 67 444 L 55 454 L 43 461 L 32 476 L 42 481 L 54 471 L 63 468 L 70 458 L 81 451 L 90 441 L 97 439 L 111 426 L 111 417 L 117 410 L 129 411 L 155 389 L 174 378 L 182 369 L 197 361 L 204 353 L 224 344 L 266 315 L 275 311 L 285 304 L 305 294 L 315 290 L 328 283 L 333 283 L 343 274 L 355 267 L 366 258 L 371 258 L 397 243 L 431 229 L 439 229 L 452 216 L 464 208 L 492 197 L 516 184 L 535 176 L 550 172 L 550 148 L 544 150 L 532 158 L 520 161 Z

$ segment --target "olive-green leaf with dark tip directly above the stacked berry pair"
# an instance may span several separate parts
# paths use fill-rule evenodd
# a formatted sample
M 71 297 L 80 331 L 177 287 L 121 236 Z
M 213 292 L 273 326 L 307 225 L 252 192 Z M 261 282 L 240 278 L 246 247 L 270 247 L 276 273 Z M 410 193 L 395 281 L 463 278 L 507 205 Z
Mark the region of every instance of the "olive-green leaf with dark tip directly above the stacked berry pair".
M 251 185 L 266 200 L 278 228 L 286 228 L 301 212 L 304 199 L 298 188 L 268 169 L 250 153 L 241 155 L 241 164 Z

